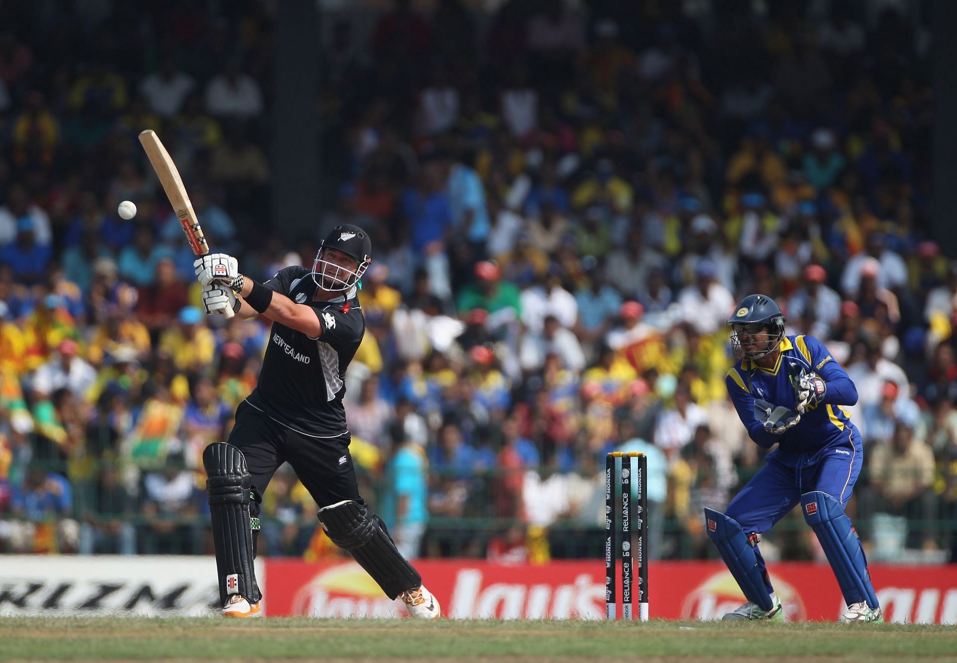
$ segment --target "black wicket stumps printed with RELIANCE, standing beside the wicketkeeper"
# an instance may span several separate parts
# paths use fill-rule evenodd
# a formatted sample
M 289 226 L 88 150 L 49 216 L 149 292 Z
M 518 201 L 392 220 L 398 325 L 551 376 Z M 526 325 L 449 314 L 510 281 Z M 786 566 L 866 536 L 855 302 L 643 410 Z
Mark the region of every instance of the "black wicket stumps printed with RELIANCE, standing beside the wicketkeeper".
M 615 459 L 621 459 L 618 472 L 621 487 L 621 615 L 624 619 L 634 619 L 632 614 L 632 580 L 634 577 L 634 559 L 638 563 L 638 619 L 648 621 L 648 469 L 645 454 L 634 451 L 612 451 L 605 458 L 605 617 L 617 618 L 617 601 L 614 582 L 616 571 L 614 472 Z M 638 459 L 638 471 L 633 471 L 632 459 Z M 637 507 L 632 509 L 632 477 L 635 492 L 638 495 Z M 632 513 L 637 517 L 633 519 Z M 638 526 L 637 548 L 632 545 L 632 526 Z M 636 550 L 634 556 L 632 551 Z

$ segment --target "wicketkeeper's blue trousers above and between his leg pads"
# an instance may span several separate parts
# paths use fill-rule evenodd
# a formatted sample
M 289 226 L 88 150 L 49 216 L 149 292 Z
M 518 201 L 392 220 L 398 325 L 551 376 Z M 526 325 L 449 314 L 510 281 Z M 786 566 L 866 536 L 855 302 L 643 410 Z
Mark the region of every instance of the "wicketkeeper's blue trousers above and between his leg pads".
M 854 491 L 864 457 L 857 426 L 851 424 L 845 432 L 847 438 L 843 442 L 813 453 L 788 454 L 779 449 L 768 454 L 765 467 L 735 495 L 724 513 L 737 520 L 746 535 L 751 535 L 768 532 L 800 503 L 805 492 L 827 492 L 845 505 Z M 754 554 L 768 593 L 772 593 L 774 588 L 757 546 Z

